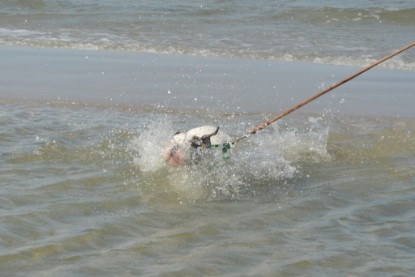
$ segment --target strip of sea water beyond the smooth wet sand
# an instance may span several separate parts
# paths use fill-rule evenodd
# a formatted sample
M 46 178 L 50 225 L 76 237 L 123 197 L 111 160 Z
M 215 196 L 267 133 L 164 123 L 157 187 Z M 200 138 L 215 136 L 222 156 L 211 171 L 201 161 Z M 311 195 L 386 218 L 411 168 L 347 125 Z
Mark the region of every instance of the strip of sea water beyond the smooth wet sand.
M 412 0 L 3 0 L 0 43 L 362 66 L 413 41 L 414 14 Z

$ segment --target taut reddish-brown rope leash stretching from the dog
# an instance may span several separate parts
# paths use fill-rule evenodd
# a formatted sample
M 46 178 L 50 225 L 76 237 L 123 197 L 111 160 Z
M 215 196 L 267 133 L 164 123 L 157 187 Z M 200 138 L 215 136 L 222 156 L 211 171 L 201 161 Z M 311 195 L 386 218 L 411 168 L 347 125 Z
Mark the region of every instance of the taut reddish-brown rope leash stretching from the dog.
M 411 47 L 413 47 L 413 46 L 415 46 L 415 41 L 414 41 L 414 42 L 412 42 L 411 44 L 409 44 L 409 45 L 407 45 L 407 46 L 405 46 L 405 47 L 403 47 L 403 48 L 401 48 L 401 49 L 399 49 L 399 50 L 397 50 L 397 51 L 393 52 L 392 54 L 389 54 L 388 56 L 386 56 L 386 57 L 384 57 L 384 58 L 382 58 L 382 59 L 380 59 L 380 60 L 378 60 L 378 61 L 376 61 L 376 62 L 372 63 L 371 65 L 368 65 L 367 67 L 365 67 L 365 68 L 363 68 L 363 69 L 361 69 L 361 70 L 357 71 L 356 73 L 354 73 L 354 74 L 350 75 L 349 77 L 347 77 L 347 78 L 345 78 L 345 79 L 341 80 L 340 82 L 338 82 L 338 83 L 336 83 L 336 84 L 332 85 L 331 87 L 329 87 L 329 88 L 327 88 L 327 89 L 324 89 L 324 90 L 320 91 L 319 93 L 317 93 L 316 95 L 314 95 L 314 96 L 312 96 L 312 97 L 308 98 L 308 99 L 307 99 L 307 100 L 305 100 L 304 102 L 301 102 L 301 103 L 297 104 L 296 106 L 293 106 L 292 108 L 290 108 L 290 109 L 286 110 L 285 112 L 283 112 L 283 113 L 281 113 L 281 114 L 279 114 L 279 115 L 277 115 L 277 116 L 275 116 L 275 117 L 271 118 L 270 120 L 268 120 L 268 121 L 266 121 L 266 122 L 261 123 L 260 125 L 258 125 L 257 127 L 253 128 L 251 131 L 249 131 L 246 135 L 244 135 L 244 136 L 242 136 L 242 137 L 239 137 L 239 138 L 235 139 L 234 141 L 232 141 L 232 142 L 230 142 L 230 143 L 231 143 L 231 144 L 235 144 L 235 143 L 239 142 L 240 140 L 242 140 L 242 139 L 244 139 L 244 138 L 247 138 L 247 137 L 249 137 L 249 136 L 251 136 L 251 135 L 256 134 L 258 131 L 261 131 L 262 129 L 264 129 L 265 127 L 267 127 L 267 126 L 271 125 L 271 124 L 272 124 L 272 123 L 274 123 L 275 121 L 277 121 L 277 120 L 279 120 L 279 119 L 283 118 L 284 116 L 286 116 L 286 115 L 288 115 L 288 114 L 290 114 L 290 113 L 292 113 L 292 112 L 294 112 L 294 111 L 298 110 L 299 108 L 301 108 L 301 107 L 303 107 L 303 106 L 307 105 L 308 103 L 310 103 L 310 102 L 312 102 L 312 101 L 316 100 L 316 99 L 317 99 L 317 98 L 319 98 L 320 96 L 323 96 L 323 95 L 324 95 L 324 94 L 326 94 L 327 92 L 332 91 L 333 89 L 335 89 L 335 88 L 337 88 L 337 87 L 339 87 L 339 86 L 341 86 L 341 85 L 343 85 L 343 84 L 347 83 L 348 81 L 350 81 L 350 80 L 352 80 L 352 79 L 356 78 L 357 76 L 359 76 L 359 75 L 363 74 L 364 72 L 368 71 L 369 69 L 371 69 L 371 68 L 373 68 L 373 67 L 375 67 L 375 66 L 379 65 L 380 63 L 383 63 L 383 62 L 384 62 L 384 61 L 386 61 L 386 60 L 389 60 L 390 58 L 392 58 L 392 57 L 394 57 L 394 56 L 396 56 L 396 55 L 398 55 L 398 54 L 402 53 L 402 52 L 403 52 L 403 51 L 405 51 L 405 50 L 408 50 L 409 48 L 411 48 Z

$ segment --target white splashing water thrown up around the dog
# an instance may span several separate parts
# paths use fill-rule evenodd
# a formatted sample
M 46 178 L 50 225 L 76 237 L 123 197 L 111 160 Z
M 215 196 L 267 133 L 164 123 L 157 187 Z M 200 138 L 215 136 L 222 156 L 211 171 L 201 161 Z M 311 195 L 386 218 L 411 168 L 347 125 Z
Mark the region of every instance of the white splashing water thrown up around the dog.
M 174 134 L 171 119 L 153 120 L 129 148 L 136 153 L 134 164 L 144 181 L 162 180 L 180 200 L 242 199 L 293 182 L 302 175 L 298 163 L 330 158 L 326 149 L 329 128 L 323 118 L 309 117 L 302 127 L 286 125 L 275 125 L 236 145 L 229 160 L 223 159 L 220 149 L 209 149 L 203 159 L 177 168 L 164 160 Z

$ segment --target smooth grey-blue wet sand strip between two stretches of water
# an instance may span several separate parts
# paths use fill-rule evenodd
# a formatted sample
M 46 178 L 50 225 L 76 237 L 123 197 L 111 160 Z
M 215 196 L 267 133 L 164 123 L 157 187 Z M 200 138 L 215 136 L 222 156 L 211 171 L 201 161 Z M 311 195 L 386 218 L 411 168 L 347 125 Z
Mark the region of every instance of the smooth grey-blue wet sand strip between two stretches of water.
M 286 110 L 359 68 L 301 62 L 1 46 L 3 98 L 206 112 Z M 374 68 L 302 111 L 413 117 L 411 70 Z

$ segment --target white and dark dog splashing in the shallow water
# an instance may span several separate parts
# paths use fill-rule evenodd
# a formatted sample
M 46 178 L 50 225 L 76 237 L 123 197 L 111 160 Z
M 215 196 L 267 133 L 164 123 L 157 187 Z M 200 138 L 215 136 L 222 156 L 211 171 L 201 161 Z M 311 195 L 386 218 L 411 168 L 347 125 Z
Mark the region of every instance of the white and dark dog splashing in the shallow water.
M 165 160 L 171 166 L 182 166 L 197 162 L 205 149 L 221 147 L 224 159 L 229 158 L 230 137 L 219 127 L 200 126 L 187 132 L 177 132 L 166 150 Z

